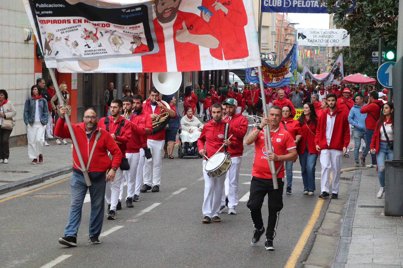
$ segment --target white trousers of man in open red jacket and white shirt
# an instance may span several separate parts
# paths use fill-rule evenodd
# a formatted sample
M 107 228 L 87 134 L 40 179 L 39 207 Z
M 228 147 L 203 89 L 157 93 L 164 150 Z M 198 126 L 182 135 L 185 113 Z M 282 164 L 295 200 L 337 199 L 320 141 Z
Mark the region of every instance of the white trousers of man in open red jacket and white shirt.
M 332 172 L 332 193 L 339 193 L 340 170 L 343 151 L 335 149 L 322 149 L 320 151 L 320 165 L 322 176 L 320 177 L 321 192 L 329 192 L 330 171 Z

